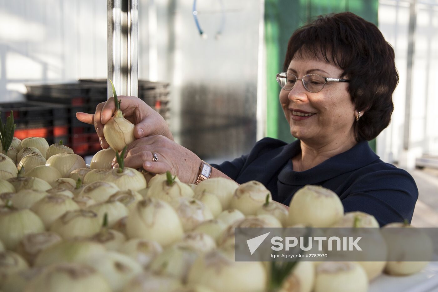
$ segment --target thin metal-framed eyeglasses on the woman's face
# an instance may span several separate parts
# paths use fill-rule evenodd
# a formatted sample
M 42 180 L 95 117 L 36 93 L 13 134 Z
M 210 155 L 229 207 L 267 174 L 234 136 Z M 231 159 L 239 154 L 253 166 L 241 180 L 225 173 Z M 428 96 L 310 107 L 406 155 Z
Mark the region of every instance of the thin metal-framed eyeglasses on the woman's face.
M 303 78 L 298 78 L 289 72 L 281 72 L 277 74 L 277 82 L 281 88 L 285 90 L 293 89 L 297 80 L 301 80 L 304 88 L 312 93 L 321 91 L 327 82 L 350 82 L 350 80 L 347 79 L 323 77 L 318 74 L 307 74 L 304 75 Z

